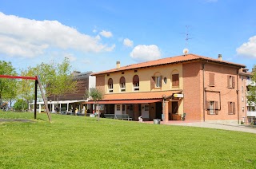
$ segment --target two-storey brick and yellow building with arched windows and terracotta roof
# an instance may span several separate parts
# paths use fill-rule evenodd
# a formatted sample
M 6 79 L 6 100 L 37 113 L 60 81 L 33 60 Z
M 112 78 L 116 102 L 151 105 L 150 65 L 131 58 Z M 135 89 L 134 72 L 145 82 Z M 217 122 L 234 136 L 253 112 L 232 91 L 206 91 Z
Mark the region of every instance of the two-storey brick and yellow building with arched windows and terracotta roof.
M 93 73 L 105 92 L 100 111 L 134 120 L 242 120 L 239 70 L 228 61 L 195 54 L 167 57 Z M 89 102 L 90 103 L 90 102 Z

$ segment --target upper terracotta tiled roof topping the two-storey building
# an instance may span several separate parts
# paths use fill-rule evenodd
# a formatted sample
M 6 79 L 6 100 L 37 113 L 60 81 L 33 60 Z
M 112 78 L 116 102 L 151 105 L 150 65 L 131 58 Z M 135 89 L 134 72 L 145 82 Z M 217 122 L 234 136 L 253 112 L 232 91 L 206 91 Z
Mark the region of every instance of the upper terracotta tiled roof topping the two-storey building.
M 218 64 L 223 64 L 223 65 L 232 65 L 236 66 L 239 68 L 245 68 L 246 65 L 241 65 L 241 64 L 236 64 L 232 63 L 229 61 L 221 61 L 219 59 L 214 59 L 210 57 L 202 57 L 196 54 L 187 54 L 185 55 L 180 55 L 176 57 L 166 57 L 154 61 L 146 61 L 138 64 L 133 64 L 133 65 L 126 65 L 120 67 L 120 69 L 110 69 L 98 73 L 92 73 L 92 76 L 100 75 L 100 74 L 105 74 L 105 73 L 114 73 L 114 72 L 120 72 L 124 70 L 129 70 L 129 69 L 139 69 L 139 68 L 146 68 L 146 67 L 152 67 L 152 66 L 157 66 L 157 65 L 169 65 L 169 64 L 177 64 L 177 63 L 182 63 L 182 62 L 187 62 L 187 61 L 209 61 L 209 62 L 214 62 Z

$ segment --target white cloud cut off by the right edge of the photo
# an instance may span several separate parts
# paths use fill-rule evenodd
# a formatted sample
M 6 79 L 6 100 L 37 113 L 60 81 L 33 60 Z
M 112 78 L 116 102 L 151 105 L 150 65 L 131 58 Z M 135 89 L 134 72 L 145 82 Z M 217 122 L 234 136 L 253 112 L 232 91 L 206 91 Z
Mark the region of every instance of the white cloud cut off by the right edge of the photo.
M 256 57 L 256 36 L 250 37 L 249 41 L 238 47 L 237 53 L 241 56 Z

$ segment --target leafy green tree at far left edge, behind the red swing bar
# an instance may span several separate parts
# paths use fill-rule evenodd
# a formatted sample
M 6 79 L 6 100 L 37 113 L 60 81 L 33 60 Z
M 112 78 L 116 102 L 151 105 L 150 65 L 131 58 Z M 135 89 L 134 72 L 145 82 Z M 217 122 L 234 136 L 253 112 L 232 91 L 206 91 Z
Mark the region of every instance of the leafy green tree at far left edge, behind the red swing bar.
M 0 61 L 0 74 L 16 76 L 17 73 L 10 62 Z M 13 100 L 17 95 L 17 81 L 14 79 L 0 78 L 0 104 L 2 100 Z

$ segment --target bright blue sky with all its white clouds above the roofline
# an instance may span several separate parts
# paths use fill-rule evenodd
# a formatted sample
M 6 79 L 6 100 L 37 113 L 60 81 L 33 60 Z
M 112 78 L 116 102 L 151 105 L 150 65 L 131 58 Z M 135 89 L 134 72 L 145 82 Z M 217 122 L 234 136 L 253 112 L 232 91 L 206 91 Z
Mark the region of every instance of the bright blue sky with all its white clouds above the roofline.
M 0 0 L 0 59 L 17 71 L 70 58 L 80 72 L 189 53 L 256 61 L 254 0 Z M 190 38 L 186 45 L 186 32 Z

